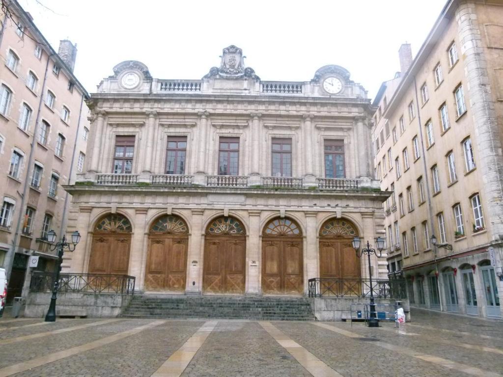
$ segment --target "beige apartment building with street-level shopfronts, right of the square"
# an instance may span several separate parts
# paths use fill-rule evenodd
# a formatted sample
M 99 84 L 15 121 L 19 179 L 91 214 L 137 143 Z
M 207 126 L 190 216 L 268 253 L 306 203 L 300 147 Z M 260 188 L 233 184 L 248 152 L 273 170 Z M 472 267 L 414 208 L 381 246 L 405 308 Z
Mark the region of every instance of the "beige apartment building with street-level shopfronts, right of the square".
M 374 102 L 389 269 L 412 306 L 503 313 L 502 20 L 501 1 L 449 1 Z

